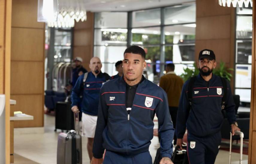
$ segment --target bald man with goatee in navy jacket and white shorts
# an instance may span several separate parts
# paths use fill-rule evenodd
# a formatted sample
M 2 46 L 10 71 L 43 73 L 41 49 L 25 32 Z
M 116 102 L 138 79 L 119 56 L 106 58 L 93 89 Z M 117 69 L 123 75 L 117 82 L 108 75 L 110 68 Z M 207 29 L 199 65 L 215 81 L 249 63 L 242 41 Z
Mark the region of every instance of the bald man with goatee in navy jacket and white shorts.
M 88 138 L 87 151 L 90 160 L 93 157 L 93 138 L 96 129 L 97 115 L 99 108 L 99 92 L 102 84 L 110 79 L 107 73 L 102 73 L 102 63 L 99 58 L 93 57 L 89 65 L 91 72 L 79 76 L 72 89 L 72 111 L 78 112 L 78 104 L 81 101 L 82 111 L 82 136 Z M 84 78 L 87 76 L 87 78 Z

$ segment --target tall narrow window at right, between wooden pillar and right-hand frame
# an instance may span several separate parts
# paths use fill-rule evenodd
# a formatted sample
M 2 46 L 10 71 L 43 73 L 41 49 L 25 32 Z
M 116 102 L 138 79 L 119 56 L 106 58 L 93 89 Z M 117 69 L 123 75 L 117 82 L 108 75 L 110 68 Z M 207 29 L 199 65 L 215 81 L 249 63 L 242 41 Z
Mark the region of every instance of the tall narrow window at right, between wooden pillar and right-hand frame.
M 237 7 L 235 94 L 240 101 L 251 101 L 252 7 Z

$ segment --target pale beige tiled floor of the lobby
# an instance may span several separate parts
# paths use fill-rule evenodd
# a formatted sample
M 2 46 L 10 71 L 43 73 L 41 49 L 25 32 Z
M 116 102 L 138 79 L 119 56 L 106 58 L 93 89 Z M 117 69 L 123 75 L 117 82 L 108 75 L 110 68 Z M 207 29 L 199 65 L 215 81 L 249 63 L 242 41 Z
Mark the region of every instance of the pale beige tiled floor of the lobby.
M 45 115 L 45 133 L 44 134 L 19 134 L 14 136 L 14 163 L 17 164 L 56 164 L 57 154 L 57 136 L 60 131 L 54 132 L 53 116 Z M 154 160 L 158 143 L 157 137 L 152 139 L 149 147 L 150 154 Z M 83 164 L 89 164 L 89 157 L 86 149 L 87 140 L 82 138 Z M 220 150 L 217 156 L 217 164 L 227 164 L 229 152 Z M 243 164 L 248 163 L 248 155 L 243 155 Z M 232 154 L 232 164 L 239 163 L 239 154 Z

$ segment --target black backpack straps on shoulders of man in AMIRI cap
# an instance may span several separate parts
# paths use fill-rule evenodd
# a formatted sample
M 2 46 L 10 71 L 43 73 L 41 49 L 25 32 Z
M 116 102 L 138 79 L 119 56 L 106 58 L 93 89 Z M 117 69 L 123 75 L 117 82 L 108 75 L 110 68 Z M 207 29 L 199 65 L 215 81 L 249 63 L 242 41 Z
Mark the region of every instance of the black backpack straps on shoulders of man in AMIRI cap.
M 221 102 L 221 109 L 225 109 L 225 103 L 226 103 L 226 100 L 227 100 L 227 96 L 226 96 L 226 92 L 227 92 L 227 80 L 225 78 L 222 78 L 220 77 L 221 79 L 221 82 L 222 82 L 222 86 L 223 86 L 223 97 L 222 97 L 222 102 Z M 189 80 L 189 83 L 188 83 L 188 100 L 189 100 L 189 104 L 191 106 L 191 102 L 192 102 L 192 93 L 193 93 L 193 85 L 194 85 L 194 82 L 196 80 L 196 76 L 190 78 Z

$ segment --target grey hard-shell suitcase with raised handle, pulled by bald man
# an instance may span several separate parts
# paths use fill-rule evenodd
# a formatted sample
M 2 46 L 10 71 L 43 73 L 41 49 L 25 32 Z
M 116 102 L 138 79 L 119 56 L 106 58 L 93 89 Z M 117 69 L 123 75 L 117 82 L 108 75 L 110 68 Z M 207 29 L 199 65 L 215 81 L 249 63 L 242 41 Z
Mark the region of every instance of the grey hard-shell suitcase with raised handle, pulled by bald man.
M 79 116 L 74 113 L 75 127 Z M 82 139 L 75 130 L 58 135 L 57 164 L 82 164 Z

